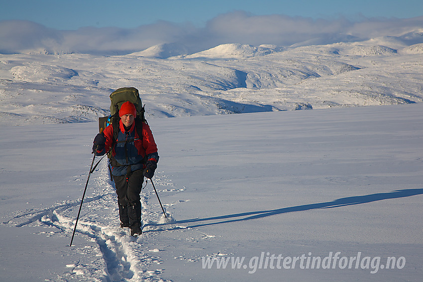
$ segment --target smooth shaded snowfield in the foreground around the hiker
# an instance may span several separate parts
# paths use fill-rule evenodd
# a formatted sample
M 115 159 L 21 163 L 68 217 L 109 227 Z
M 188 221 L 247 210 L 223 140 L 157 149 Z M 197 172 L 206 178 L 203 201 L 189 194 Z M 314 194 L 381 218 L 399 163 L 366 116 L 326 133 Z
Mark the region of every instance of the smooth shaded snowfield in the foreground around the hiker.
M 148 184 L 144 233 L 128 236 L 103 160 L 73 247 L 97 123 L 3 125 L 0 281 L 420 281 L 422 110 L 151 118 L 153 180 L 174 221 L 163 221 Z M 279 268 L 279 255 L 298 258 L 295 268 Z M 333 269 L 307 264 L 329 256 Z M 217 269 L 231 257 L 245 260 Z M 357 269 L 342 269 L 350 258 Z

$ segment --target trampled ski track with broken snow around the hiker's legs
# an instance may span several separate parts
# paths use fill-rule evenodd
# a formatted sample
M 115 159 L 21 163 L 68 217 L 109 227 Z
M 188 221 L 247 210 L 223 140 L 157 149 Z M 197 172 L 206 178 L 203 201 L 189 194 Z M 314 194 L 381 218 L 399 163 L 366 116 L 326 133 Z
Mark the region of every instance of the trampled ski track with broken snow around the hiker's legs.
M 76 179 L 77 181 L 79 179 Z M 167 176 L 156 172 L 154 182 L 158 193 L 180 192 L 185 188 L 177 188 Z M 146 185 L 145 182 L 143 184 Z M 147 185 L 151 186 L 150 183 Z M 163 188 L 163 189 L 161 189 Z M 159 249 L 149 249 L 143 244 L 142 238 L 147 237 L 151 243 L 155 231 L 166 230 L 184 230 L 185 226 L 174 226 L 163 228 L 164 225 L 172 224 L 173 219 L 168 215 L 167 220 L 163 220 L 163 213 L 157 201 L 150 201 L 151 197 L 156 197 L 154 190 L 145 187 L 141 192 L 142 203 L 142 221 L 143 234 L 139 237 L 129 235 L 128 228 L 119 227 L 119 217 L 117 209 L 117 198 L 114 192 L 114 185 L 108 178 L 107 162 L 103 161 L 99 169 L 93 173 L 87 188 L 87 194 L 90 190 L 95 190 L 93 196 L 86 196 L 83 208 L 78 221 L 75 239 L 77 237 L 86 237 L 88 241 L 95 243 L 95 247 L 78 246 L 74 239 L 73 248 L 82 255 L 93 255 L 102 260 L 93 261 L 91 264 L 68 264 L 71 271 L 60 275 L 57 281 L 69 281 L 69 279 L 78 278 L 79 281 L 107 281 L 107 282 L 134 282 L 151 281 L 163 282 L 161 274 L 164 270 L 160 269 L 163 261 L 157 254 Z M 166 206 L 177 204 L 164 204 Z M 71 239 L 75 226 L 75 220 L 81 198 L 66 203 L 59 203 L 53 207 L 42 210 L 21 210 L 15 212 L 11 219 L 3 222 L 9 226 L 44 226 L 55 227 L 57 231 L 39 232 L 46 236 L 67 236 Z M 109 210 L 108 213 L 100 214 L 101 211 Z M 104 215 L 106 214 L 106 216 Z M 99 264 L 102 264 L 99 267 Z M 102 270 L 103 271 L 100 271 Z

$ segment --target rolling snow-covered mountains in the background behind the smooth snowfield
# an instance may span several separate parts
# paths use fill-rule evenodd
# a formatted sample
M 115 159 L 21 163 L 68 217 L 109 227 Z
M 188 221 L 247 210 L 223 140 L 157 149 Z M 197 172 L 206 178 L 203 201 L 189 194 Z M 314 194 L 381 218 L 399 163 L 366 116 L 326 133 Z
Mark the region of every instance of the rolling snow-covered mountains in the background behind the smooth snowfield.
M 421 102 L 422 34 L 312 46 L 233 43 L 195 54 L 161 44 L 109 57 L 0 55 L 0 123 L 95 121 L 120 87 L 139 89 L 148 117 Z

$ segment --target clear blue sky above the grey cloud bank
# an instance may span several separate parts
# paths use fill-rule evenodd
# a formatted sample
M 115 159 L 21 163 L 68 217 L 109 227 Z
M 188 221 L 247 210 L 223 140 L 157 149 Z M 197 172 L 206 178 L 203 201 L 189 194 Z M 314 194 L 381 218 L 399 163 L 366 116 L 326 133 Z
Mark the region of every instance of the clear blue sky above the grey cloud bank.
M 236 10 L 315 19 L 423 15 L 423 0 L 0 0 L 0 4 L 0 20 L 29 20 L 59 30 L 134 28 L 158 20 L 200 27 L 219 14 Z

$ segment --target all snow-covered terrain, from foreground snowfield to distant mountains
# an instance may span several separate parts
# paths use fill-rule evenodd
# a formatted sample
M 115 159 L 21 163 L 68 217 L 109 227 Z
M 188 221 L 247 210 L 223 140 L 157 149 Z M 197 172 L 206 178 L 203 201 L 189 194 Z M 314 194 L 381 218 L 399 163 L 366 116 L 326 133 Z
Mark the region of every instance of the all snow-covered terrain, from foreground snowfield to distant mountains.
M 422 34 L 0 54 L 0 281 L 420 281 Z M 148 183 L 144 233 L 120 229 L 103 160 L 69 247 L 119 87 L 146 104 L 169 220 Z

